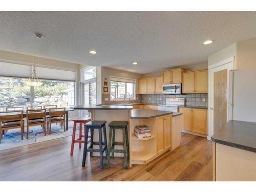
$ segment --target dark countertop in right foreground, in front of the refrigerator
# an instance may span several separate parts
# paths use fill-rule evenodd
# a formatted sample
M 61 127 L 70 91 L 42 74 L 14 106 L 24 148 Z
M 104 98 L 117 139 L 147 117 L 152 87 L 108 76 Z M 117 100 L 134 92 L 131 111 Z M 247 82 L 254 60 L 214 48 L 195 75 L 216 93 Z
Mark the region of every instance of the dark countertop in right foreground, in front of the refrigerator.
M 211 140 L 242 150 L 256 153 L 256 123 L 246 121 L 228 121 Z

